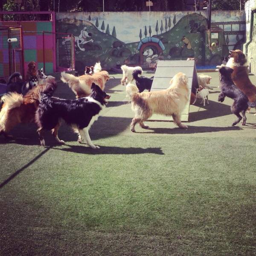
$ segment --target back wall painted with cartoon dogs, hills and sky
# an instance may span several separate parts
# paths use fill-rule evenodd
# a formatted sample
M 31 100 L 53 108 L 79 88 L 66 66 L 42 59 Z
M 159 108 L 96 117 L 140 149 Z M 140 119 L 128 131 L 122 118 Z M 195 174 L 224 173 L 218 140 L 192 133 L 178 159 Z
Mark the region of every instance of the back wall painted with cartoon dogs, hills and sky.
M 153 68 L 159 60 L 187 58 L 196 58 L 198 66 L 215 65 L 229 49 L 242 49 L 244 12 L 212 12 L 212 28 L 220 28 L 212 37 L 207 22 L 207 12 L 59 13 L 56 31 L 75 36 L 76 70 L 96 61 L 107 70 L 122 64 Z M 63 56 L 66 44 L 63 39 L 58 47 Z

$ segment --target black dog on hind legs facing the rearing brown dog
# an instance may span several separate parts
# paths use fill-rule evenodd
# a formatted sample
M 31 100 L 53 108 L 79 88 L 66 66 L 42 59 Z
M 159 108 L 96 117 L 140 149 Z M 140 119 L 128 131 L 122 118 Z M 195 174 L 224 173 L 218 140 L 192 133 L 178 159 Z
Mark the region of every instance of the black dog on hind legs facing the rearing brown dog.
M 235 84 L 233 84 L 233 81 L 231 79 L 231 73 L 233 72 L 233 69 L 230 67 L 221 67 L 219 69 L 220 73 L 220 82 L 221 82 L 221 93 L 218 96 L 218 101 L 223 102 L 225 97 L 229 97 L 234 100 L 232 106 L 231 106 L 231 112 L 235 114 L 238 118 L 235 122 L 233 122 L 232 126 L 238 124 L 242 117 L 240 115 L 240 112 L 243 116 L 243 122 L 242 125 L 245 125 L 246 123 L 246 116 L 245 112 L 248 108 L 248 98 L 247 96 L 239 90 L 238 87 L 236 87 Z

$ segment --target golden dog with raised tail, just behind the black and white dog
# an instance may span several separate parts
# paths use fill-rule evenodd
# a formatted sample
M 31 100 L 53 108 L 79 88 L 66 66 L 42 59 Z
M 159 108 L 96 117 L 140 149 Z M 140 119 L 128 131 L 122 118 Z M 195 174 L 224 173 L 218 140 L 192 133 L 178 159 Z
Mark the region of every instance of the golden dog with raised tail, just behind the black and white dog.
M 92 76 L 74 76 L 65 72 L 61 72 L 61 81 L 67 83 L 68 86 L 76 94 L 76 98 L 87 97 L 91 94 L 92 83 L 97 84 L 104 90 L 105 83 L 109 80 L 107 71 L 100 71 Z

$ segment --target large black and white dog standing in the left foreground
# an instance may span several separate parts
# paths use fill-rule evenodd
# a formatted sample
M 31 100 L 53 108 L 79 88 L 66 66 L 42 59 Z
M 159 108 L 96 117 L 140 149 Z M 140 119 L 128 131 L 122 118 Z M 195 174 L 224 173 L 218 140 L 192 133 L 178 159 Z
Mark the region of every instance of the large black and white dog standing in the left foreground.
M 43 91 L 35 117 L 39 127 L 38 134 L 41 145 L 45 145 L 44 130 L 52 130 L 55 140 L 64 144 L 64 141 L 58 138 L 60 120 L 63 119 L 79 135 L 79 143 L 85 139 L 91 148 L 99 148 L 99 146 L 93 145 L 89 136 L 89 129 L 93 122 L 98 119 L 99 112 L 105 108 L 106 99 L 109 99 L 110 96 L 94 83 L 91 89 L 90 96 L 74 100 L 51 97 L 52 86 Z

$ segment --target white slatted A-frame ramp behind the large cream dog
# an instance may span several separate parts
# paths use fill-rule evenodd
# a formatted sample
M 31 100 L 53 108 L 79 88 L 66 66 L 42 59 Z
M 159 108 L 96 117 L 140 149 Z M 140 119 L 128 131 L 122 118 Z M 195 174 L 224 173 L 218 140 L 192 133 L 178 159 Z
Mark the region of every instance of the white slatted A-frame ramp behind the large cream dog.
M 182 72 L 188 76 L 189 85 L 189 102 L 186 104 L 182 115 L 181 121 L 189 120 L 189 105 L 190 105 L 190 95 L 193 85 L 193 92 L 195 93 L 195 88 L 198 88 L 198 78 L 195 68 L 195 61 L 158 61 L 157 69 L 154 74 L 154 80 L 152 83 L 151 91 L 164 90 L 169 88 L 169 82 L 171 79 L 179 72 Z M 150 120 L 157 121 L 170 121 L 172 116 L 163 116 L 154 114 Z

